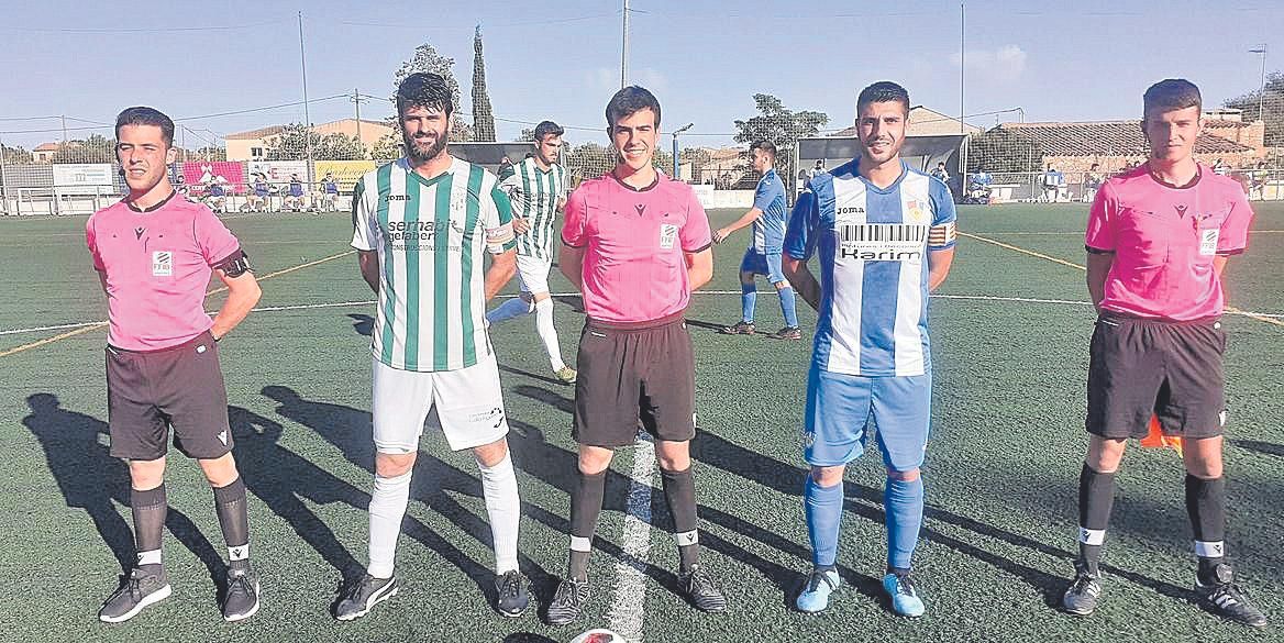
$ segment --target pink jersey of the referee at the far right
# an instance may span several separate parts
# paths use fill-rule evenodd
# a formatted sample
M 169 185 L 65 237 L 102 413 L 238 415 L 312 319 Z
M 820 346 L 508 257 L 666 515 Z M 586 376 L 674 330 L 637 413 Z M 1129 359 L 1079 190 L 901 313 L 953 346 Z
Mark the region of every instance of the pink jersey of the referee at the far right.
M 1085 235 L 1089 252 L 1115 253 L 1102 309 L 1170 321 L 1221 314 L 1213 258 L 1244 252 L 1252 219 L 1239 182 L 1204 166 L 1185 187 L 1161 184 L 1145 164 L 1107 180 Z

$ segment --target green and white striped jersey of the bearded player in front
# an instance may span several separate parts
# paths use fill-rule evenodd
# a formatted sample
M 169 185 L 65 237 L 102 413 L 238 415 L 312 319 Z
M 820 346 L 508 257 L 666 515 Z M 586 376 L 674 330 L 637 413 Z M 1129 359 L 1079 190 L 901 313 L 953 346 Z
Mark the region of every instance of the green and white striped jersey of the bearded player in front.
M 379 252 L 371 352 L 407 371 L 453 371 L 489 354 L 485 255 L 514 248 L 512 208 L 498 180 L 452 159 L 424 178 L 402 158 L 357 182 L 352 246 Z

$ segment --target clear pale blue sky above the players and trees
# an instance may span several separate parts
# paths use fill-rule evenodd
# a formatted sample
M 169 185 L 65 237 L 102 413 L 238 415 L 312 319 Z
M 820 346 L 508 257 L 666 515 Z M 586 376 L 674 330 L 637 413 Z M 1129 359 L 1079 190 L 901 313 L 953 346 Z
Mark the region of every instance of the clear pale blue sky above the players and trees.
M 109 135 L 103 124 L 136 104 L 182 119 L 190 148 L 302 122 L 298 12 L 313 123 L 353 116 L 351 100 L 330 96 L 390 95 L 393 73 L 424 42 L 455 58 L 471 114 L 476 24 L 498 118 L 550 118 L 574 144 L 605 142 L 602 112 L 620 83 L 621 0 L 4 3 L 0 141 L 28 149 L 62 137 L 56 116 L 71 139 Z M 1260 44 L 1267 71 L 1284 69 L 1276 3 L 1156 6 L 971 0 L 960 28 L 957 1 L 630 0 L 628 80 L 660 99 L 661 131 L 695 123 L 684 145 L 715 145 L 755 114 L 756 92 L 823 112 L 838 130 L 851 124 L 859 90 L 880 80 L 958 114 L 962 72 L 967 121 L 990 127 L 1016 121 L 1016 108 L 1026 121 L 1136 118 L 1141 92 L 1166 77 L 1190 78 L 1216 107 L 1258 87 L 1261 58 L 1248 50 Z M 227 114 L 284 104 L 293 105 Z M 376 119 L 392 110 L 377 99 L 361 108 Z M 501 140 L 523 127 L 497 123 Z

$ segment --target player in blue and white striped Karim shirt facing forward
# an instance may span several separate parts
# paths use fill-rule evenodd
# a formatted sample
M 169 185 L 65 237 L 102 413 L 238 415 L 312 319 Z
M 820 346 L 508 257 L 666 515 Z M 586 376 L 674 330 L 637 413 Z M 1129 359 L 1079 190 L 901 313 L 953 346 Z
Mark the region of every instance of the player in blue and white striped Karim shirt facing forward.
M 898 613 L 924 610 L 910 567 L 923 521 L 919 466 L 932 400 L 927 294 L 949 273 L 955 216 L 945 184 L 900 158 L 908 118 L 904 87 L 865 87 L 856 99 L 860 157 L 811 178 L 785 235 L 785 273 L 819 313 L 804 435 L 815 569 L 796 601 L 804 612 L 824 610 L 838 588 L 842 474 L 871 434 L 887 468 L 882 585 Z M 819 282 L 808 268 L 813 255 Z

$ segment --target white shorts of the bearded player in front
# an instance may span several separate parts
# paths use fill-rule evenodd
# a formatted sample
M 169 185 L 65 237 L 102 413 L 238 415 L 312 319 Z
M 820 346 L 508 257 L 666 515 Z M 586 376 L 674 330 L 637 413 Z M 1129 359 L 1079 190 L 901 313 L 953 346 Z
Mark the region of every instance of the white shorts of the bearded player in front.
M 375 449 L 415 453 L 428 412 L 437 406 L 452 450 L 471 449 L 508 434 L 494 356 L 457 371 L 419 372 L 375 362 Z

